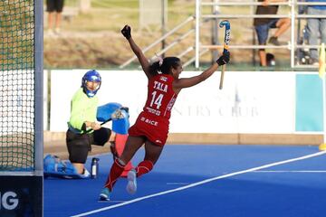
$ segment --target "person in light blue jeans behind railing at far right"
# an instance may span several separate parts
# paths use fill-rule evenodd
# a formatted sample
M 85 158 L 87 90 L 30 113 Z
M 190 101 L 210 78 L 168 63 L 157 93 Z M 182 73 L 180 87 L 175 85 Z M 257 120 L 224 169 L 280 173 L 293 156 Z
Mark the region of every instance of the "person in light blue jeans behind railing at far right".
M 322 2 L 326 3 L 326 0 L 306 0 L 307 2 Z M 326 5 L 309 5 L 307 8 L 307 14 L 309 15 L 326 15 Z M 319 36 L 321 36 L 321 42 L 326 43 L 326 19 L 325 18 L 308 18 L 307 19 L 308 30 L 308 43 L 310 45 L 319 45 Z M 317 49 L 310 49 L 310 63 L 312 65 L 318 65 L 318 52 Z

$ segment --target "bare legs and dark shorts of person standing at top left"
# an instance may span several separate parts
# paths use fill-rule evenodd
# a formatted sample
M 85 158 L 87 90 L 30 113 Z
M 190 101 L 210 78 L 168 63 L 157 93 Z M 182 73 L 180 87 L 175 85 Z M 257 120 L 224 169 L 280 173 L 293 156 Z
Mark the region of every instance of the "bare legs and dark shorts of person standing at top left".
M 46 0 L 46 11 L 48 14 L 48 31 L 53 33 L 53 16 L 55 14 L 55 33 L 60 33 L 60 26 L 62 21 L 62 10 L 64 0 Z

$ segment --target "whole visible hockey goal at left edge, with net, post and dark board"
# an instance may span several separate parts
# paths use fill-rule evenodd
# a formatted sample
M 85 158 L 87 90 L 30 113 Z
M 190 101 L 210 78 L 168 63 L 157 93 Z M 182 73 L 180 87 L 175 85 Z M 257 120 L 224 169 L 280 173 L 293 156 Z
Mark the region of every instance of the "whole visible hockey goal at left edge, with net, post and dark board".
M 0 216 L 43 216 L 43 0 L 0 11 Z

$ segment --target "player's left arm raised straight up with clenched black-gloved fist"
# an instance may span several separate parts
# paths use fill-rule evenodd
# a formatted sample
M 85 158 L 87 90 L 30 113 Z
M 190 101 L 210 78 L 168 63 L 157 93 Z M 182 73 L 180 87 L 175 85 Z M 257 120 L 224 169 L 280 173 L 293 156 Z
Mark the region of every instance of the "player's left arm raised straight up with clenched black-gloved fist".
M 139 46 L 136 44 L 136 42 L 132 39 L 130 26 L 125 25 L 123 27 L 123 29 L 121 30 L 121 33 L 128 40 L 130 48 L 131 48 L 132 52 L 134 52 L 135 55 L 137 56 L 139 63 L 141 65 L 141 68 L 145 72 L 146 76 L 148 78 L 150 78 L 151 75 L 150 75 L 150 69 L 149 69 L 149 61 L 147 60 L 147 58 L 145 57 L 144 53 L 141 51 Z

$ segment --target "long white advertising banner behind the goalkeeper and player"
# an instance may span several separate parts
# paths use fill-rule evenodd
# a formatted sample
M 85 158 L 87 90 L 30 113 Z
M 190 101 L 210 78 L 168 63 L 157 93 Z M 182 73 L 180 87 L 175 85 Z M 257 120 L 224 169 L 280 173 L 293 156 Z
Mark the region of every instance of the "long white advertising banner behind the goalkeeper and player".
M 70 100 L 86 70 L 51 71 L 51 131 L 66 131 Z M 130 124 L 147 97 L 143 71 L 99 71 L 100 104 L 129 107 Z M 180 78 L 201 71 L 183 71 Z M 293 133 L 295 73 L 227 71 L 223 90 L 219 71 L 197 86 L 181 90 L 172 110 L 170 133 Z

